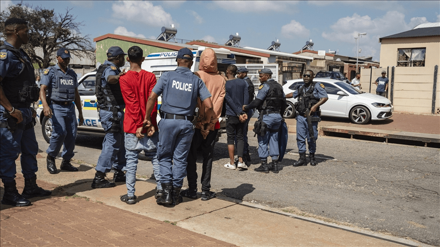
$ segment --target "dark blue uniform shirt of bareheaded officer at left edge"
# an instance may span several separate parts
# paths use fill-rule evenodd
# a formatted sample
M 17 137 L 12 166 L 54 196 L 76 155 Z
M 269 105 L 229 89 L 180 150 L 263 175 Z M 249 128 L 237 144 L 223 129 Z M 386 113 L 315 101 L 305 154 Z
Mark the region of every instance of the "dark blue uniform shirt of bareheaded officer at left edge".
M 5 45 L 14 47 L 6 41 L 5 41 Z M 2 52 L 0 56 L 0 76 L 3 79 L 5 79 L 6 77 L 13 78 L 17 76 L 20 73 L 21 69 L 23 68 L 23 64 L 21 63 L 21 61 L 18 59 L 17 56 L 14 55 L 14 53 L 12 53 L 12 51 L 2 49 L 0 50 L 0 52 Z M 29 56 L 25 55 L 23 49 L 21 48 L 20 48 L 20 53 L 23 57 L 28 59 L 28 61 L 31 60 Z

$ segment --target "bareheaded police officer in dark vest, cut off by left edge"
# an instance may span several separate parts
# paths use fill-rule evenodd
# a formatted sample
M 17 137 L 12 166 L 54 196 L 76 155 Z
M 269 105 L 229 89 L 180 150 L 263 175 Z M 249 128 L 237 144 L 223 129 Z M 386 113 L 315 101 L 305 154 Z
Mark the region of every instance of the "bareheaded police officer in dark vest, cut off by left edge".
M 19 18 L 5 21 L 6 41 L 0 47 L 0 178 L 5 186 L 2 204 L 29 206 L 27 199 L 50 196 L 51 191 L 37 185 L 38 143 L 35 138 L 37 113 L 31 103 L 38 100 L 31 58 L 21 45 L 29 42 L 28 23 Z M 18 193 L 15 183 L 16 166 L 21 152 L 24 189 Z

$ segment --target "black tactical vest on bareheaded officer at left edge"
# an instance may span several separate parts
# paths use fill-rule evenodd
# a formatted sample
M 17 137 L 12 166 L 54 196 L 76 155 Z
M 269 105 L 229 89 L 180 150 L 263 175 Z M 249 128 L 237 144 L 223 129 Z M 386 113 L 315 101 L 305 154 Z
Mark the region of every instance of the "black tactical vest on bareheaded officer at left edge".
M 6 98 L 13 104 L 28 104 L 37 101 L 40 89 L 35 84 L 34 67 L 29 55 L 24 53 L 26 55 L 23 56 L 19 50 L 8 45 L 2 45 L 0 49 L 11 51 L 23 66 L 17 76 L 3 78 L 2 85 Z

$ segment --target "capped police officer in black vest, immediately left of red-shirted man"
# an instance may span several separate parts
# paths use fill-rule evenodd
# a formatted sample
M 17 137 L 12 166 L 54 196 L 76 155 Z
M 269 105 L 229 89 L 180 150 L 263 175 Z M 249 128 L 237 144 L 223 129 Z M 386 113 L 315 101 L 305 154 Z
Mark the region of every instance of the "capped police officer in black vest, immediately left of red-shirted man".
M 125 182 L 122 169 L 127 164 L 124 148 L 124 98 L 122 97 L 119 77 L 125 73 L 119 68 L 125 64 L 124 51 L 118 46 L 107 50 L 107 60 L 96 72 L 96 99 L 98 101 L 99 118 L 105 131 L 102 152 L 96 165 L 92 188 L 115 187 L 115 182 Z M 105 179 L 105 173 L 115 169 L 114 182 Z

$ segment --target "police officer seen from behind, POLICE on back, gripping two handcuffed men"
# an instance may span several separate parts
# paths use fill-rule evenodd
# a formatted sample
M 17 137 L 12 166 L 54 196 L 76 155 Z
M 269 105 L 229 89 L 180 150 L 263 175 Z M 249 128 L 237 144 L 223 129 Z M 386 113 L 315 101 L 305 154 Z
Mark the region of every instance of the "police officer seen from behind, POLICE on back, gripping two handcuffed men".
M 182 48 L 177 52 L 177 69 L 164 73 L 148 97 L 147 110 L 144 120 L 145 127 L 154 129 L 151 125 L 151 111 L 154 102 L 162 95 L 159 121 L 159 142 L 157 143 L 157 159 L 159 160 L 160 183 L 162 196 L 157 198 L 159 204 L 177 205 L 182 202 L 179 194 L 186 176 L 186 158 L 196 124 L 195 109 L 197 97 L 205 106 L 202 125 L 215 118 L 212 110 L 211 94 L 205 83 L 190 71 L 193 66 L 193 52 Z M 193 122 L 191 122 L 193 121 Z M 142 127 L 136 131 L 141 134 Z M 174 166 L 173 166 L 174 162 Z

